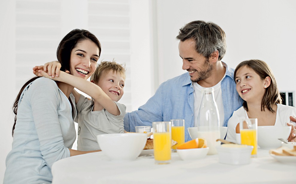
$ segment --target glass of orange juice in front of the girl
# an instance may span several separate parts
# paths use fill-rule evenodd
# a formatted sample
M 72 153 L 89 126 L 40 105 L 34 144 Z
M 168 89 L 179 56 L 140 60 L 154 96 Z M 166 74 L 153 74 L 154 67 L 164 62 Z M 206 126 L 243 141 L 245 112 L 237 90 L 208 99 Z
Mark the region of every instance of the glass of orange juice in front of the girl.
M 257 118 L 240 119 L 239 131 L 241 144 L 253 146 L 252 157 L 257 157 Z

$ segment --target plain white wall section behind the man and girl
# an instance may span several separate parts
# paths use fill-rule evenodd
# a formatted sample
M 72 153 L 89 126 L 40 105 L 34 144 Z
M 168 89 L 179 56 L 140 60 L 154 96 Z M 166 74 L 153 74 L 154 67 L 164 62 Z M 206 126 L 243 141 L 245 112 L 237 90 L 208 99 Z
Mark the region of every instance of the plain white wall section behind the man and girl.
M 204 20 L 225 31 L 222 61 L 228 66 L 261 59 L 273 70 L 281 91 L 295 91 L 295 7 L 293 0 L 157 1 L 159 84 L 185 72 L 176 40 L 179 28 Z

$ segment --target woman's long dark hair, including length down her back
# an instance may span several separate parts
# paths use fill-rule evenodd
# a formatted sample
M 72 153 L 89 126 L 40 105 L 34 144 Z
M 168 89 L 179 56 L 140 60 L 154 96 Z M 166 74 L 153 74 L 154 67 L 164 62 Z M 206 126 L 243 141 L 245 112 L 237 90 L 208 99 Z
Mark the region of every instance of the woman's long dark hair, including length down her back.
M 83 29 L 74 29 L 70 31 L 62 40 L 59 42 L 59 46 L 57 48 L 57 59 L 59 62 L 61 62 L 61 70 L 62 71 L 70 71 L 70 56 L 71 56 L 71 51 L 76 45 L 83 40 L 90 40 L 94 42 L 97 47 L 99 48 L 99 57 L 101 55 L 101 44 L 99 40 L 97 39 L 96 36 L 94 36 L 92 33 L 90 33 L 88 30 L 83 30 Z M 16 115 L 17 115 L 17 108 L 18 108 L 18 103 L 19 99 L 21 97 L 22 91 L 25 89 L 25 87 L 33 82 L 34 80 L 38 79 L 39 77 L 33 77 L 29 81 L 27 81 L 19 91 L 19 94 L 16 96 L 16 100 L 14 101 L 13 104 L 13 113 L 15 114 L 14 117 L 14 125 L 12 128 L 12 136 L 13 136 L 13 131 L 16 126 Z

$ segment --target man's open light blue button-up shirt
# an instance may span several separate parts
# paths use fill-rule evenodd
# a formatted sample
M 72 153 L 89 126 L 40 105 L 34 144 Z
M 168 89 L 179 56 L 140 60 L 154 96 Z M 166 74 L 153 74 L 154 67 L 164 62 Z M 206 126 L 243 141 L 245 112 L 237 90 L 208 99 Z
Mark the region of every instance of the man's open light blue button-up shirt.
M 224 122 L 227 126 L 232 113 L 242 106 L 243 100 L 236 91 L 234 69 L 226 66 L 226 76 L 221 82 Z M 170 121 L 170 119 L 185 119 L 185 141 L 191 140 L 187 131 L 194 126 L 194 96 L 189 73 L 186 72 L 173 79 L 163 82 L 155 94 L 138 108 L 137 111 L 126 113 L 124 129 L 135 132 L 135 126 L 152 125 L 155 121 Z

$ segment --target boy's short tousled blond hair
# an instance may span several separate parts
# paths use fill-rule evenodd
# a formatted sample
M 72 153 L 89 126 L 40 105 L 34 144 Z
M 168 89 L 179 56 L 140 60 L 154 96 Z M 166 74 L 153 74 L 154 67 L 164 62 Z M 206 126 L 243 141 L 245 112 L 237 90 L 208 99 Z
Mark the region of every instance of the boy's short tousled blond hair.
M 97 69 L 91 75 L 91 80 L 93 80 L 94 83 L 99 82 L 102 72 L 103 71 L 108 72 L 110 70 L 113 71 L 114 73 L 119 73 L 123 77 L 123 79 L 125 80 L 125 65 L 118 64 L 114 60 L 113 61 L 102 61 L 100 64 L 98 64 Z

